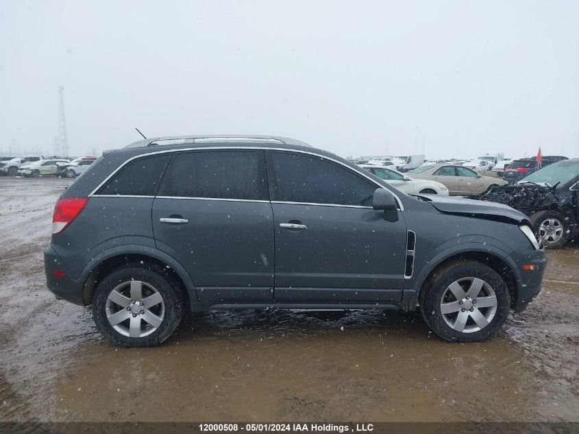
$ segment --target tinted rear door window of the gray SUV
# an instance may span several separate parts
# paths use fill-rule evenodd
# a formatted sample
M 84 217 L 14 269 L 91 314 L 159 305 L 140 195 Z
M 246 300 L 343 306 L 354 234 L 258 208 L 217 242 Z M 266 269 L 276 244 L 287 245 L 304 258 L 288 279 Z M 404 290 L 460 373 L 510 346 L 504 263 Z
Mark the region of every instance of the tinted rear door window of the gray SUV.
M 159 195 L 269 200 L 263 151 L 215 150 L 177 154 Z

